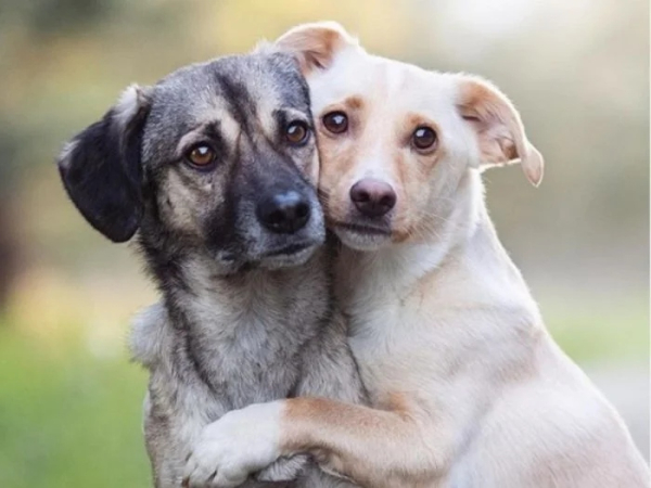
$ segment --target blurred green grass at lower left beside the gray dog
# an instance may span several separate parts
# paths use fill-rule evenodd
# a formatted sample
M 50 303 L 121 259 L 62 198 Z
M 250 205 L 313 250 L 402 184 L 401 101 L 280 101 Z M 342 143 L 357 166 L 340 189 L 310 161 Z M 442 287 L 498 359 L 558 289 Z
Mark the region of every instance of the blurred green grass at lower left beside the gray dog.
M 145 374 L 126 359 L 64 355 L 0 330 L 0 486 L 151 486 L 141 435 Z

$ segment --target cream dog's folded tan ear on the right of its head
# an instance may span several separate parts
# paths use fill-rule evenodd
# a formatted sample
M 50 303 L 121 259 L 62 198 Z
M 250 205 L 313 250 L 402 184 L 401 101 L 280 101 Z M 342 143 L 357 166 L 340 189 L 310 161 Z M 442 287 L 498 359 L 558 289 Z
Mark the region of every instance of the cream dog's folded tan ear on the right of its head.
M 497 87 L 477 77 L 459 76 L 457 107 L 477 134 L 480 167 L 520 162 L 534 187 L 542 180 L 542 155 L 526 139 L 520 114 Z

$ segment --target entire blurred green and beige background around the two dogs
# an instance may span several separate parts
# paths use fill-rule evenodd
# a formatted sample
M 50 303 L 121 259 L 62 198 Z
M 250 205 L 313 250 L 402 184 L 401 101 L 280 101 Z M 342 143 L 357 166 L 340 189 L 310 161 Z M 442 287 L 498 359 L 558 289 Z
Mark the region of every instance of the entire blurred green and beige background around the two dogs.
M 482 74 L 545 154 L 485 175 L 562 347 L 649 454 L 649 5 L 618 0 L 0 0 L 0 486 L 145 487 L 130 316 L 155 293 L 53 159 L 132 81 L 336 20 L 369 50 Z

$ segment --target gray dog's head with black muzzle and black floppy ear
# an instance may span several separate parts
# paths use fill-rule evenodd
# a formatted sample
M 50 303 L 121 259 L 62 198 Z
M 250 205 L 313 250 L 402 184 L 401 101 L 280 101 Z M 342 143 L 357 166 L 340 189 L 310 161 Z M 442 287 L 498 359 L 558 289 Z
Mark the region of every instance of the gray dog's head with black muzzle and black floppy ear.
M 115 242 L 207 252 L 225 272 L 305 261 L 324 239 L 308 89 L 261 50 L 130 87 L 59 162 L 73 202 Z

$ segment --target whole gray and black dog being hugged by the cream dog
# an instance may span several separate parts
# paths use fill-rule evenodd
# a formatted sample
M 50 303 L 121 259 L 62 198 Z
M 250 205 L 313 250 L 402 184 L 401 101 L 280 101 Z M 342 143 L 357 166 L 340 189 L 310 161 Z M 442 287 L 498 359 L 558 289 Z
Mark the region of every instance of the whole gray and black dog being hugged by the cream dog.
M 59 167 L 91 226 L 114 242 L 138 231 L 162 294 L 132 337 L 151 372 L 156 487 L 181 486 L 190 447 L 229 410 L 297 395 L 363 401 L 321 248 L 309 93 L 290 55 L 260 48 L 130 87 Z M 301 457 L 245 484 L 347 485 Z

